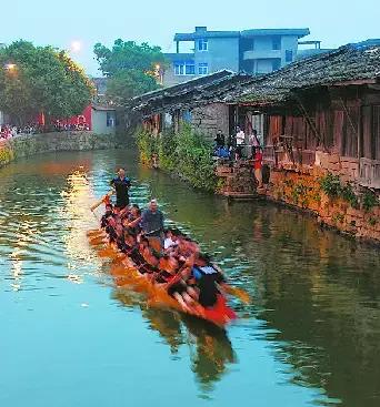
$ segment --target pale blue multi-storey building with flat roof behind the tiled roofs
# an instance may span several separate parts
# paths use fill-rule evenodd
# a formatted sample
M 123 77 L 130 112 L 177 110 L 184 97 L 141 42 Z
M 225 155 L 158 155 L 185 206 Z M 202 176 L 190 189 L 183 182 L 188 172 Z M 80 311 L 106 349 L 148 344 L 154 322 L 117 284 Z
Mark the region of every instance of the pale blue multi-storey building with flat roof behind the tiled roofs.
M 250 74 L 276 71 L 296 60 L 299 39 L 309 33 L 307 28 L 209 31 L 196 27 L 194 32 L 174 35 L 177 52 L 166 54 L 169 68 L 163 84 L 170 87 L 221 70 Z M 180 52 L 183 42 L 190 42 L 193 52 Z

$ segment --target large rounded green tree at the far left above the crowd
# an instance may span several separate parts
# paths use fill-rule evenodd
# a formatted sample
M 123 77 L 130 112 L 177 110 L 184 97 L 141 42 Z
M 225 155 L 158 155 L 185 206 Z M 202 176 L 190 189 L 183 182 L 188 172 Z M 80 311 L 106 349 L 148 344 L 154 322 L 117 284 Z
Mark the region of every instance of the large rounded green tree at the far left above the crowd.
M 27 41 L 0 50 L 0 110 L 19 125 L 40 112 L 54 119 L 78 115 L 92 92 L 90 80 L 64 51 Z

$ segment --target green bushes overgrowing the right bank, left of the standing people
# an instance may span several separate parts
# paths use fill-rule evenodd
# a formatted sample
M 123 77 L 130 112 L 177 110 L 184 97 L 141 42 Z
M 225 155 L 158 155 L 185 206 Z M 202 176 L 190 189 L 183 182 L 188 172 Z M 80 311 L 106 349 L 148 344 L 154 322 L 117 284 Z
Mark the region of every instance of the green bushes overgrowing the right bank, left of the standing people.
M 177 134 L 164 132 L 157 138 L 141 130 L 137 134 L 137 144 L 142 162 L 148 163 L 157 155 L 160 169 L 178 173 L 192 186 L 216 190 L 218 180 L 212 146 L 189 124 L 183 123 Z

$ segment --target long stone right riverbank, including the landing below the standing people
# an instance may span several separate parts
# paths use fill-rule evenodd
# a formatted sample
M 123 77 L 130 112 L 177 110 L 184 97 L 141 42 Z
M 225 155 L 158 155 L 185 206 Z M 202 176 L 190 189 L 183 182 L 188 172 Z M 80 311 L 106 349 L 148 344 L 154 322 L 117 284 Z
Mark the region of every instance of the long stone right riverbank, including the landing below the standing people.
M 139 150 L 144 164 L 174 173 L 189 182 L 181 166 L 162 165 L 162 162 L 166 164 L 162 160 L 166 156 L 162 154 L 154 155 L 152 149 L 142 149 L 141 145 Z M 184 151 L 193 152 L 194 149 Z M 299 166 L 296 170 L 272 167 L 270 174 L 264 176 L 268 179 L 266 189 L 256 191 L 252 164 L 249 161 L 233 165 L 217 164 L 213 169 L 212 159 L 209 157 L 209 165 L 202 165 L 198 182 L 190 184 L 229 199 L 260 197 L 276 204 L 286 204 L 301 213 L 312 214 L 323 227 L 328 226 L 347 236 L 380 245 L 380 205 L 377 194 L 358 184 L 359 169 L 353 167 L 352 163 L 348 166 L 346 161 L 331 161 L 331 154 L 320 154 L 320 159 L 322 161 L 319 165 Z M 197 159 L 192 161 L 199 165 Z M 208 175 L 210 171 L 214 172 L 214 181 L 204 183 L 204 180 L 211 179 Z

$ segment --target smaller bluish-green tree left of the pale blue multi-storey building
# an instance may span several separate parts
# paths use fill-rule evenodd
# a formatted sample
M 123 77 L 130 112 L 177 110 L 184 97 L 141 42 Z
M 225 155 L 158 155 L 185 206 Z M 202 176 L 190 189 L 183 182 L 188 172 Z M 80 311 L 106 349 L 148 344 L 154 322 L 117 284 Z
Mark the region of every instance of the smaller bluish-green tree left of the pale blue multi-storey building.
M 93 52 L 100 70 L 109 78 L 107 95 L 118 102 L 159 88 L 158 75 L 166 64 L 160 47 L 116 40 L 112 49 L 101 43 Z

